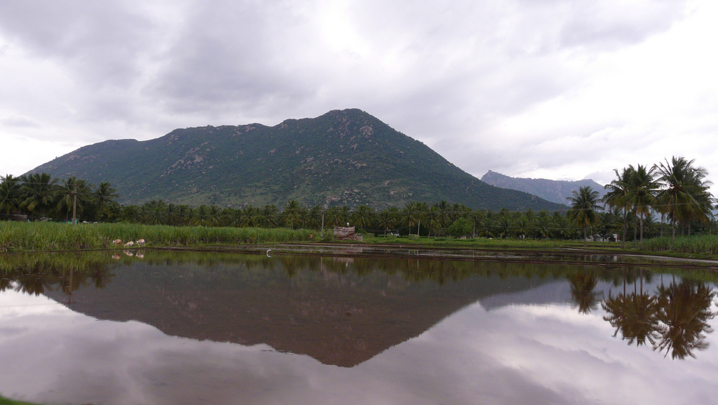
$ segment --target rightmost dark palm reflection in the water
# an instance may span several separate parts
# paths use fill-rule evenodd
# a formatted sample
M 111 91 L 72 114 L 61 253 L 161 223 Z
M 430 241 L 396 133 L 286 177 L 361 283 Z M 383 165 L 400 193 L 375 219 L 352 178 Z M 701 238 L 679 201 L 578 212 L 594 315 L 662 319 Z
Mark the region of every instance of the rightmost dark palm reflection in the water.
M 695 358 L 694 350 L 705 350 L 705 333 L 713 332 L 708 324 L 715 314 L 710 306 L 716 293 L 704 283 L 681 281 L 658 288 L 659 342 L 653 350 L 671 352 L 671 358 Z

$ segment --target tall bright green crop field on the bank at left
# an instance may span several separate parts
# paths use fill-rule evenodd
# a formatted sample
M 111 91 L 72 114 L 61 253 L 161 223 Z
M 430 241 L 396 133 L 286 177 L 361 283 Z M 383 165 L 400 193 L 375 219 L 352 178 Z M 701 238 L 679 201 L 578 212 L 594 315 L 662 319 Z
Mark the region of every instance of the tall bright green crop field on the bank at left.
M 0 252 L 84 250 L 112 241 L 144 239 L 147 246 L 237 245 L 308 241 L 312 231 L 286 228 L 172 227 L 141 224 L 0 222 Z

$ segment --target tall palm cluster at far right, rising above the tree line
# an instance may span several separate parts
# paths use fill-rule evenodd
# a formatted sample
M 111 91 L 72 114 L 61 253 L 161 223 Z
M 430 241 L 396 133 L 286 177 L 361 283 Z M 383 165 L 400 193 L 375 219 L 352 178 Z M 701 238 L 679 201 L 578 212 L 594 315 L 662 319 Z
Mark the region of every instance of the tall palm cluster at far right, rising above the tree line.
M 661 223 L 666 217 L 671 222 L 673 239 L 677 226 L 681 227 L 681 235 L 686 227 L 690 235 L 691 225 L 712 223 L 716 203 L 709 191 L 712 183 L 706 178 L 707 170 L 694 165 L 694 160 L 673 157 L 651 168 L 629 165 L 620 172 L 614 171 L 616 178 L 606 185 L 609 191 L 604 202 L 621 213 L 623 235 L 627 234 L 629 215 L 640 222 L 640 240 L 644 222 L 652 212 L 661 214 Z

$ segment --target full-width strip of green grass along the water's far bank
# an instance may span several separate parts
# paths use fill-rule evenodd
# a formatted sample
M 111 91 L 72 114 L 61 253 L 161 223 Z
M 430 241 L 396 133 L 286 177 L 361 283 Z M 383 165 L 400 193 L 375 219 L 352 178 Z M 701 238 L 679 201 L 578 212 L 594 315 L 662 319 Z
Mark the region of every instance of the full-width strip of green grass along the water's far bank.
M 312 235 L 314 234 L 314 235 Z M 142 224 L 71 224 L 55 222 L 0 222 L 0 252 L 37 252 L 120 248 L 113 240 L 146 240 L 147 247 L 252 245 L 258 243 L 331 241 L 330 231 L 287 228 L 173 227 Z M 356 244 L 358 242 L 350 242 Z M 419 245 L 433 247 L 480 247 L 509 249 L 580 249 L 602 252 L 633 252 L 683 258 L 718 259 L 718 235 L 658 237 L 628 242 L 626 249 L 617 242 L 582 240 L 498 239 L 451 237 L 382 237 L 366 235 L 362 244 Z

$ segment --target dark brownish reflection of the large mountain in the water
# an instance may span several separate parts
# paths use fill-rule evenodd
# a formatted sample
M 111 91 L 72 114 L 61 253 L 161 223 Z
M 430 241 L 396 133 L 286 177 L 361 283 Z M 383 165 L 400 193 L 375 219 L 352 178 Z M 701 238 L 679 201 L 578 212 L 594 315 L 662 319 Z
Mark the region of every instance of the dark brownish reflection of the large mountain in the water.
M 350 367 L 420 335 L 478 299 L 549 281 L 447 276 L 437 283 L 432 281 L 436 273 L 411 279 L 412 269 L 417 275 L 449 274 L 457 265 L 480 274 L 495 263 L 381 260 L 383 270 L 376 270 L 377 261 L 301 258 L 292 267 L 256 257 L 204 267 L 134 263 L 113 270 L 116 276 L 102 290 L 74 291 L 69 306 L 99 319 L 145 322 L 167 335 L 265 343 Z M 49 295 L 67 302 L 67 296 L 57 291 Z

